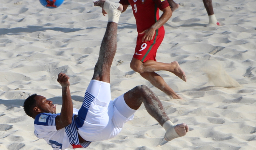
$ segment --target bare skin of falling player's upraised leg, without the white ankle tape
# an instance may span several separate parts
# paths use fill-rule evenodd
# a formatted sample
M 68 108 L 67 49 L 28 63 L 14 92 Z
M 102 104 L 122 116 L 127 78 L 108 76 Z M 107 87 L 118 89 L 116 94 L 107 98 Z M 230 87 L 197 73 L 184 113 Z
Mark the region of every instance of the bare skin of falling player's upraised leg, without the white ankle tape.
M 94 2 L 94 5 L 103 7 L 104 2 L 105 0 L 99 0 Z M 119 7 L 117 6 L 118 7 L 117 9 L 120 9 L 119 11 L 122 11 L 123 6 L 120 4 L 118 5 Z M 106 32 L 100 47 L 99 59 L 94 68 L 93 79 L 95 80 L 110 83 L 110 67 L 116 53 L 116 45 L 117 45 L 117 39 L 116 39 L 117 25 L 118 25 L 117 23 L 108 22 L 108 25 L 106 27 Z

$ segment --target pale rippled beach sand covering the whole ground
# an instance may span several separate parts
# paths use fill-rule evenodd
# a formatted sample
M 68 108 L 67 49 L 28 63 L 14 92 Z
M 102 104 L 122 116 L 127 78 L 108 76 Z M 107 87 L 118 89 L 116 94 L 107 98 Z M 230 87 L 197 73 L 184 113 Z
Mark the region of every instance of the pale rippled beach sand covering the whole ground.
M 184 100 L 170 100 L 130 69 L 137 30 L 131 7 L 118 25 L 118 48 L 111 69 L 112 99 L 145 84 L 159 97 L 174 124 L 185 122 L 185 137 L 165 141 L 164 129 L 144 106 L 114 139 L 88 150 L 255 150 L 256 0 L 213 0 L 222 26 L 204 27 L 201 0 L 179 0 L 165 24 L 160 62 L 179 62 L 187 82 L 159 71 Z M 44 95 L 61 108 L 59 72 L 70 76 L 75 108 L 94 72 L 108 17 L 91 0 L 66 0 L 46 9 L 38 0 L 0 0 L 0 149 L 50 150 L 33 134 L 23 110 L 29 95 Z

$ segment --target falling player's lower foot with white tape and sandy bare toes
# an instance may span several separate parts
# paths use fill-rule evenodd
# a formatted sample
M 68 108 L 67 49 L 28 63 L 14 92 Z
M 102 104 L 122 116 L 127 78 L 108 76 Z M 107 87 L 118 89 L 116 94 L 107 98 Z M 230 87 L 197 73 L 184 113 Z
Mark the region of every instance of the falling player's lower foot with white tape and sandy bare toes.
M 165 133 L 165 140 L 170 141 L 174 138 L 184 136 L 187 134 L 188 131 L 189 127 L 185 123 L 170 126 Z

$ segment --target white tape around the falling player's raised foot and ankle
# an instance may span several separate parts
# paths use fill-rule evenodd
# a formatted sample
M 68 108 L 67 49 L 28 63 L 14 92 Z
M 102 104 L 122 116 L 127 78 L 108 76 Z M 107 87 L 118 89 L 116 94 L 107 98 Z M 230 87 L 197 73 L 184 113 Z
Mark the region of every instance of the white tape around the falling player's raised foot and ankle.
M 118 24 L 118 20 L 122 11 L 117 10 L 120 6 L 119 3 L 114 3 L 109 0 L 106 0 L 103 6 L 103 9 L 108 13 L 109 20 L 108 22 L 114 22 Z

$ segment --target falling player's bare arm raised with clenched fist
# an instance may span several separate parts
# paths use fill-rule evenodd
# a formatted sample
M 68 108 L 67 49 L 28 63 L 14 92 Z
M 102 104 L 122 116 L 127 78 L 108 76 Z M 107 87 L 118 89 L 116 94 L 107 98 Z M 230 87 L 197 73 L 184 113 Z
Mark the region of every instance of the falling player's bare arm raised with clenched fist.
M 69 76 L 65 73 L 59 73 L 57 81 L 62 87 L 62 107 L 60 115 L 55 118 L 56 129 L 60 130 L 72 123 L 73 104 L 69 90 Z

